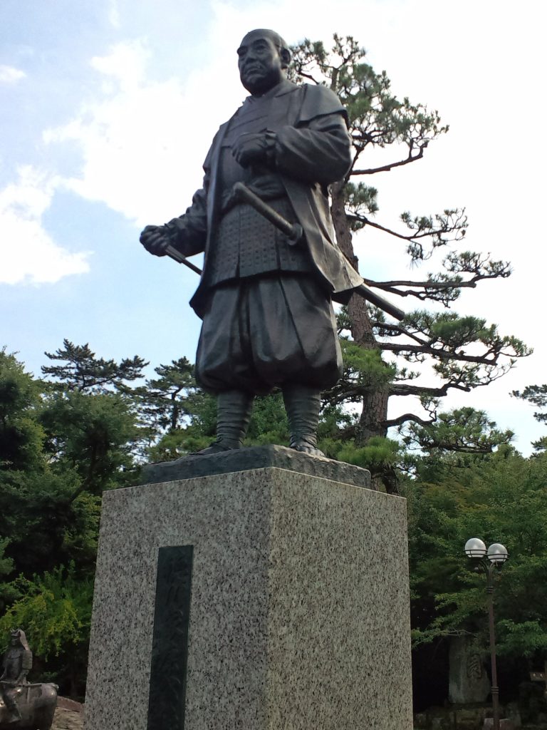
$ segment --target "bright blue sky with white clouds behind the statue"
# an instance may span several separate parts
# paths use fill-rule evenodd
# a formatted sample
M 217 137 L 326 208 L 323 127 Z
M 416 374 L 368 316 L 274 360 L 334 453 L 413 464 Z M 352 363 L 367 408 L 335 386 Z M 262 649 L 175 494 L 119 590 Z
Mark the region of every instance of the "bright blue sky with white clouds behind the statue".
M 465 207 L 465 247 L 511 261 L 507 280 L 465 290 L 455 310 L 497 323 L 534 353 L 444 409 L 486 410 L 516 447 L 543 435 L 510 396 L 547 382 L 543 329 L 547 118 L 541 4 L 523 0 L 0 0 L 0 346 L 38 375 L 63 338 L 150 367 L 195 357 L 196 274 L 147 254 L 147 223 L 180 215 L 201 186 L 218 126 L 246 92 L 236 48 L 252 28 L 290 44 L 352 34 L 397 96 L 450 131 L 405 168 L 374 176 L 376 220 Z M 366 229 L 371 279 L 422 277 Z M 199 257 L 195 258 L 199 265 Z M 433 264 L 430 264 L 433 267 Z M 407 299 L 397 301 L 414 308 Z M 392 399 L 390 416 L 410 410 Z

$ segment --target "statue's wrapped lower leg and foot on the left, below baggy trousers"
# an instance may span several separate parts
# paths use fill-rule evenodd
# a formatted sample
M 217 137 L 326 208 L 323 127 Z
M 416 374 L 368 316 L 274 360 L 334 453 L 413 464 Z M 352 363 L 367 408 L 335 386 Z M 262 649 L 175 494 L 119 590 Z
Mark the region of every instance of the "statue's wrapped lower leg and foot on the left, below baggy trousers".
M 254 396 L 245 391 L 223 391 L 217 396 L 217 440 L 206 449 L 198 451 L 201 456 L 241 449 L 249 420 Z

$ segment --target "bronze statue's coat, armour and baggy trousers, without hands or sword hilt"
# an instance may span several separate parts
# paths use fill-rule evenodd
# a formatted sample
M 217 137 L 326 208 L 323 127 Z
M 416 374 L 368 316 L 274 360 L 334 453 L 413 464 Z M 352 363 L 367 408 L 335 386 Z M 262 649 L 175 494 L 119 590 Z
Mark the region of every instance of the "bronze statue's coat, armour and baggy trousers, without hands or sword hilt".
M 263 164 L 231 155 L 241 134 L 263 133 Z M 184 255 L 205 253 L 190 304 L 203 319 L 196 371 L 209 391 L 265 393 L 275 385 L 327 388 L 341 374 L 331 299 L 345 302 L 361 277 L 335 245 L 327 185 L 351 164 L 346 112 L 320 86 L 287 80 L 249 97 L 220 127 L 203 164 L 203 188 L 185 215 L 166 224 Z M 230 199 L 244 182 L 303 227 L 287 239 L 247 204 Z

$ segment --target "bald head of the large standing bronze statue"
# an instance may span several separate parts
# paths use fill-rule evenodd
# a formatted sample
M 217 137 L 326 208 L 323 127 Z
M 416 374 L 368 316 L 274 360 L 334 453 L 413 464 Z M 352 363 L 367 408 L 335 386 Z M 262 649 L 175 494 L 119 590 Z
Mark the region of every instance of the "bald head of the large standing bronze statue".
M 290 64 L 287 43 L 278 33 L 266 28 L 247 33 L 238 47 L 238 56 L 241 83 L 254 96 L 279 84 Z

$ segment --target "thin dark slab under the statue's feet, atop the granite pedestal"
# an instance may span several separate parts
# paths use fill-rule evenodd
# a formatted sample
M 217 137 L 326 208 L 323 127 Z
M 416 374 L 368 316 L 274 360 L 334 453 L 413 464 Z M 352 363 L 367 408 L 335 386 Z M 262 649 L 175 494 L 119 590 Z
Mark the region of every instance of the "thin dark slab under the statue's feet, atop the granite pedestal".
M 175 461 L 147 464 L 142 469 L 141 481 L 146 484 L 156 484 L 214 474 L 246 472 L 249 469 L 265 469 L 267 466 L 289 469 L 291 472 L 322 477 L 333 482 L 371 488 L 371 472 L 368 469 L 331 458 L 310 456 L 286 446 L 273 444 L 233 449 L 212 456 L 185 456 Z

